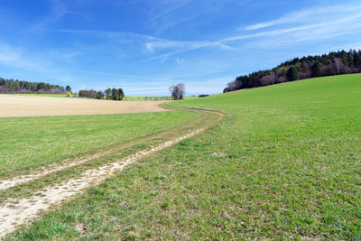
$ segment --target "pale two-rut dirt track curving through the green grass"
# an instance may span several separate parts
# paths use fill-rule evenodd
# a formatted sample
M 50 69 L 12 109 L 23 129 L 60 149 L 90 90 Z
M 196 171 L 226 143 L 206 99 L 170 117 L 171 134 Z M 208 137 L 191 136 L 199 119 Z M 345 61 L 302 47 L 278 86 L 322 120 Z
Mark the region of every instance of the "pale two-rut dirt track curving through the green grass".
M 41 217 L 43 211 L 50 211 L 55 209 L 60 203 L 69 201 L 80 193 L 87 190 L 89 187 L 97 185 L 107 178 L 114 176 L 118 171 L 122 171 L 130 164 L 137 162 L 153 153 L 160 152 L 180 141 L 195 136 L 204 132 L 208 128 L 217 125 L 224 118 L 225 114 L 222 112 L 206 109 L 189 108 L 190 111 L 196 111 L 200 115 L 197 119 L 190 123 L 180 125 L 170 130 L 166 130 L 159 134 L 140 138 L 125 144 L 123 146 L 115 146 L 106 151 L 100 150 L 98 153 L 93 153 L 90 156 L 73 160 L 73 162 L 66 162 L 62 165 L 48 165 L 45 168 L 40 168 L 29 175 L 20 175 L 11 180 L 3 180 L 0 184 L 0 192 L 4 190 L 17 187 L 19 184 L 26 182 L 34 182 L 41 179 L 43 176 L 56 175 L 58 171 L 71 169 L 84 162 L 91 162 L 101 156 L 106 156 L 111 153 L 121 152 L 125 147 L 132 147 L 134 144 L 147 143 L 154 139 L 165 141 L 156 143 L 156 146 L 150 145 L 141 151 L 132 153 L 125 158 L 100 165 L 96 168 L 90 168 L 83 171 L 80 175 L 69 178 L 66 181 L 58 181 L 45 187 L 42 190 L 35 191 L 32 195 L 22 198 L 5 199 L 0 203 L 0 238 L 13 232 L 16 227 L 31 223 Z M 170 136 L 172 138 L 170 138 Z M 174 138 L 174 136 L 177 136 Z M 168 137 L 168 138 L 167 138 Z M 1 180 L 0 180 L 1 181 Z

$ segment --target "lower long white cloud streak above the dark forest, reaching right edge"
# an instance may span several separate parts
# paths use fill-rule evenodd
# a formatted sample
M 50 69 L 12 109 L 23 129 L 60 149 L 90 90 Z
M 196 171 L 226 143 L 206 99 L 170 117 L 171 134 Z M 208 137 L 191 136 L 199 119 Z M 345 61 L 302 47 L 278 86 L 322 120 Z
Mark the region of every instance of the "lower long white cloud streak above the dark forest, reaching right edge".
M 146 48 L 153 52 L 156 50 L 175 49 L 175 51 L 167 51 L 149 59 L 166 60 L 168 57 L 180 54 L 184 51 L 196 51 L 212 46 L 218 46 L 220 49 L 224 50 L 249 51 L 250 49 L 260 46 L 270 48 L 275 44 L 310 42 L 356 32 L 361 32 L 361 12 L 334 21 L 304 24 L 296 27 L 255 32 L 251 34 L 238 34 L 214 42 L 147 42 Z M 251 40 L 252 42 L 249 42 Z

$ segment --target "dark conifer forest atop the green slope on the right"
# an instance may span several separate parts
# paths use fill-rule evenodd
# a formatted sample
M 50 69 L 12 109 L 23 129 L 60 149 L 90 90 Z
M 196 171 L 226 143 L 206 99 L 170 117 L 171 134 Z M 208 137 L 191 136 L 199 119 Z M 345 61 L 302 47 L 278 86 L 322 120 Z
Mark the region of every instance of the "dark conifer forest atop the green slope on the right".
M 224 93 L 242 88 L 257 88 L 298 79 L 360 73 L 361 51 L 332 51 L 329 54 L 294 58 L 272 70 L 259 70 L 238 76 L 227 83 Z

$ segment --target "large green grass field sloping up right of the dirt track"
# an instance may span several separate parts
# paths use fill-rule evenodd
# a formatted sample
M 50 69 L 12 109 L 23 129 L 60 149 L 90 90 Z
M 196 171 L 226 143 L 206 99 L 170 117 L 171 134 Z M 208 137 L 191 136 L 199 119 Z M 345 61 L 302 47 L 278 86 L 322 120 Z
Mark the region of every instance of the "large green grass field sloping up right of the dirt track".
M 228 116 L 6 239 L 361 239 L 361 74 L 169 105 Z

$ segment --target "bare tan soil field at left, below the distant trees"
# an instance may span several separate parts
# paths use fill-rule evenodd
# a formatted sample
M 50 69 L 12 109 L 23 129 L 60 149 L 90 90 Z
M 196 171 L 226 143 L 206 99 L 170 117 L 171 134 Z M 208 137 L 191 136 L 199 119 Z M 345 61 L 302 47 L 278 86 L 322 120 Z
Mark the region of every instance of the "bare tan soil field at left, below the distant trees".
M 0 117 L 68 116 L 166 111 L 166 101 L 112 101 L 82 98 L 0 95 Z

